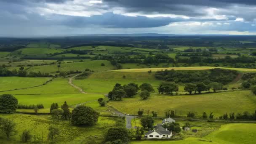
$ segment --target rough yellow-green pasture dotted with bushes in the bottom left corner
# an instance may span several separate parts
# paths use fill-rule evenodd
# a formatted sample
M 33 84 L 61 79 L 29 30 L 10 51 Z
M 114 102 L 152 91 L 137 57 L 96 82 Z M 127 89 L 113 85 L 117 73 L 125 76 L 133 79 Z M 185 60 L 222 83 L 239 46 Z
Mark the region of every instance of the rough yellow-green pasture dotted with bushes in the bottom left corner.
M 69 121 L 60 121 L 57 122 L 53 120 L 49 115 L 22 115 L 22 114 L 1 114 L 0 117 L 6 117 L 12 119 L 16 123 L 17 133 L 14 136 L 11 136 L 10 140 L 7 140 L 6 137 L 0 137 L 1 144 L 10 144 L 10 143 L 21 143 L 20 136 L 22 131 L 25 129 L 31 131 L 33 135 L 37 135 L 43 141 L 47 141 L 48 127 L 54 125 L 61 130 L 59 139 L 57 139 L 58 144 L 63 143 L 72 143 L 72 144 L 82 144 L 85 143 L 86 139 L 90 136 L 98 136 L 95 138 L 96 141 L 102 141 L 102 137 L 107 128 L 115 125 L 115 118 L 112 117 L 99 117 L 98 123 L 93 126 L 88 127 L 76 127 L 69 125 Z M 4 135 L 3 135 L 4 136 Z M 33 139 L 32 139 L 33 141 Z

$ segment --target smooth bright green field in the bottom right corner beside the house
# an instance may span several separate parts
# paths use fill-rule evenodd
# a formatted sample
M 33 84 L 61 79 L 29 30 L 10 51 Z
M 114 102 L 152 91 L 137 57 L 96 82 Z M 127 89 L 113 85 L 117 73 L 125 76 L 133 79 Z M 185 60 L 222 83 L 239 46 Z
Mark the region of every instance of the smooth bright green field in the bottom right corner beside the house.
M 255 129 L 256 124 L 234 123 L 221 125 L 219 130 L 203 138 L 191 137 L 180 141 L 134 141 L 131 144 L 254 144 Z

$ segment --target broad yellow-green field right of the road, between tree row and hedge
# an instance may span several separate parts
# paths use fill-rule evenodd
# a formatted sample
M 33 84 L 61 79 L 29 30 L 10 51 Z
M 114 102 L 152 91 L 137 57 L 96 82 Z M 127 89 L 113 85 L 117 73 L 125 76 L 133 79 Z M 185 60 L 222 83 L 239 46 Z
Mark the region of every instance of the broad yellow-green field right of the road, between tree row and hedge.
M 154 110 L 159 116 L 164 116 L 167 109 L 176 110 L 178 115 L 188 112 L 213 112 L 215 117 L 230 112 L 254 112 L 256 98 L 250 91 L 229 91 L 186 96 L 164 96 L 153 94 L 148 100 L 139 97 L 126 98 L 123 101 L 110 101 L 110 105 L 128 114 L 137 113 L 138 109 Z

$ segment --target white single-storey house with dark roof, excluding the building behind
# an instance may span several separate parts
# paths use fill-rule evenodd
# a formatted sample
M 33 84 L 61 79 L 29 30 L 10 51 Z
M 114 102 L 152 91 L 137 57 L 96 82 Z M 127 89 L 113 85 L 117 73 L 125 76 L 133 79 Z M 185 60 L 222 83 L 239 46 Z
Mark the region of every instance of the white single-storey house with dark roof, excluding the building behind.
M 157 124 L 157 128 L 154 131 L 149 131 L 145 134 L 147 139 L 162 139 L 171 138 L 172 132 L 168 131 L 167 128 L 163 128 L 161 124 Z

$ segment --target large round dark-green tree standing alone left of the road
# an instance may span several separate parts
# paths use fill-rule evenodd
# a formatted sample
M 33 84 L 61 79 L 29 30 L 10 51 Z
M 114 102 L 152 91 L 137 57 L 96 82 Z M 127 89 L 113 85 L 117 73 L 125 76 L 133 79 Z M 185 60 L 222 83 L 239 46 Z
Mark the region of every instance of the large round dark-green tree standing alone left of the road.
M 73 109 L 71 117 L 74 125 L 93 125 L 98 121 L 99 112 L 91 107 L 78 106 Z

